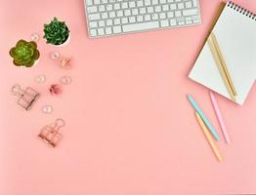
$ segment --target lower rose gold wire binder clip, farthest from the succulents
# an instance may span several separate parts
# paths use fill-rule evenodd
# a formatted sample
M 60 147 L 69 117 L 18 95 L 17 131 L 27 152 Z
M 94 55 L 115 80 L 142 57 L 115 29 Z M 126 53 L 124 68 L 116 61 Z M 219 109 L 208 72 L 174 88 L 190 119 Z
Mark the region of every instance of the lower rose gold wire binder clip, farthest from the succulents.
M 38 137 L 44 140 L 52 147 L 56 147 L 63 136 L 59 133 L 59 130 L 65 125 L 63 119 L 56 119 L 56 121 L 50 125 L 42 128 Z

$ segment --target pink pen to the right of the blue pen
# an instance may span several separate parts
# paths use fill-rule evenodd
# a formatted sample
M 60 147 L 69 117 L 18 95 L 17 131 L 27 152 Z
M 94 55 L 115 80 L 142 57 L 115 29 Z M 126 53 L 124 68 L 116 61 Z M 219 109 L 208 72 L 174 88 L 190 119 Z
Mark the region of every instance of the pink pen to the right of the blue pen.
M 223 132 L 223 135 L 225 137 L 225 140 L 227 143 L 231 143 L 231 138 L 227 132 L 227 128 L 224 124 L 224 121 L 223 121 L 223 117 L 222 117 L 222 114 L 221 114 L 221 110 L 219 108 L 219 105 L 217 103 L 217 100 L 213 94 L 213 92 L 210 91 L 210 98 L 211 98 L 211 101 L 212 101 L 212 105 L 213 105 L 213 108 L 214 108 L 214 111 L 215 111 L 215 114 L 217 116 L 217 119 L 219 121 L 219 124 L 221 126 L 221 129 L 222 129 L 222 132 Z

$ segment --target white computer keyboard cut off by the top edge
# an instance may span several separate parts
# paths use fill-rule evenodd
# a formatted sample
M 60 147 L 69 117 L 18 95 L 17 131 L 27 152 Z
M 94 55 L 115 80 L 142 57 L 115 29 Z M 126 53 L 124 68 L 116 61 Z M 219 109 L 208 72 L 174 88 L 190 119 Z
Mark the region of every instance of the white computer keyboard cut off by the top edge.
M 90 37 L 200 23 L 199 0 L 85 0 Z

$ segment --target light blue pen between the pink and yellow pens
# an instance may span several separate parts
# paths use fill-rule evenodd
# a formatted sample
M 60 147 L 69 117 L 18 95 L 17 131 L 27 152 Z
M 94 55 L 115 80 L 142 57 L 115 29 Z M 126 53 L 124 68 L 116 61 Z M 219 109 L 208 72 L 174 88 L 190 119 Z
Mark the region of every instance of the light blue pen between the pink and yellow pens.
M 193 100 L 191 95 L 187 95 L 190 102 L 192 103 L 192 107 L 196 110 L 196 112 L 199 114 L 199 116 L 201 117 L 202 121 L 204 122 L 204 124 L 208 127 L 208 129 L 210 130 L 211 134 L 213 135 L 213 137 L 215 137 L 216 140 L 220 140 L 220 137 L 218 135 L 218 133 L 216 132 L 216 130 L 214 129 L 214 127 L 210 124 L 209 120 L 206 118 L 206 116 L 203 114 L 202 110 L 199 108 L 199 106 L 197 105 L 197 103 Z

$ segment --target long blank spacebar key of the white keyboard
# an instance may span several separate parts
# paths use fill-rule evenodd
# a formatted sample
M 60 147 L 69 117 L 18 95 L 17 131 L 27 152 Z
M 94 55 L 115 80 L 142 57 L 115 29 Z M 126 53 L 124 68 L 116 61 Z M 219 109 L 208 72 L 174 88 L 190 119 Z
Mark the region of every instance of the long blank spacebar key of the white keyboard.
M 123 31 L 124 32 L 133 32 L 133 31 L 139 31 L 139 30 L 148 30 L 159 27 L 158 21 L 149 21 L 149 22 L 143 22 L 143 23 L 133 23 L 133 24 L 127 24 L 123 25 Z

